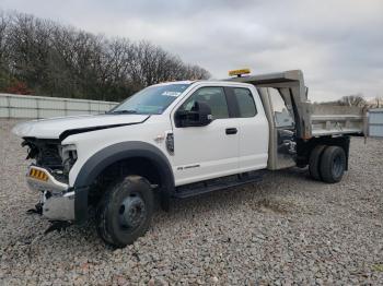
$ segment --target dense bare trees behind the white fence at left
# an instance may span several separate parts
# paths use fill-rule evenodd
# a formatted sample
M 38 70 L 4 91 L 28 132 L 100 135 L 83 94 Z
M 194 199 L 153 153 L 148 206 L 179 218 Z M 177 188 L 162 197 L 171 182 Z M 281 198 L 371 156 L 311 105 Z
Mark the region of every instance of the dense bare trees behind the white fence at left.
M 149 41 L 0 12 L 0 92 L 121 100 L 159 82 L 208 78 Z

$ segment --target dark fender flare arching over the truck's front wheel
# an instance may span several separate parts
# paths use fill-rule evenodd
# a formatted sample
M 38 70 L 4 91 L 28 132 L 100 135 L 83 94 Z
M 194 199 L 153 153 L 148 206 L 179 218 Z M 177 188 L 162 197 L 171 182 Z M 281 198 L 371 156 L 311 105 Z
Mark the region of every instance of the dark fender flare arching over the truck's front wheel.
M 77 223 L 88 218 L 88 192 L 96 177 L 112 164 L 127 158 L 144 157 L 150 159 L 158 168 L 163 182 L 162 195 L 167 200 L 174 190 L 174 175 L 166 156 L 158 147 L 140 141 L 116 143 L 92 155 L 81 167 L 73 188 L 74 216 Z

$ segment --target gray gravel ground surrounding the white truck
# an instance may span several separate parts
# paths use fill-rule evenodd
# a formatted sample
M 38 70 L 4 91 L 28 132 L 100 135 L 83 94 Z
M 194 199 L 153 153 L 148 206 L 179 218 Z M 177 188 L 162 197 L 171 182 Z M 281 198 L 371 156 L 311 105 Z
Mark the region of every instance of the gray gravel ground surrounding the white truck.
M 92 225 L 44 235 L 25 211 L 27 162 L 16 121 L 0 120 L 0 284 L 290 285 L 383 284 L 383 141 L 352 139 L 337 184 L 306 169 L 174 202 L 148 234 L 114 250 Z

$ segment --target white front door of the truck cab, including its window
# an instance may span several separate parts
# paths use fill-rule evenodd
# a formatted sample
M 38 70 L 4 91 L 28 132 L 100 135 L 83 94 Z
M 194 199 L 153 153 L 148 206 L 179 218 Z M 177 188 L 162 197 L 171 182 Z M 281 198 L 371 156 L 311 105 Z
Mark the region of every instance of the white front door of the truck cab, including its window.
M 176 186 L 232 175 L 239 169 L 239 120 L 230 118 L 224 88 L 199 87 L 175 110 L 190 111 L 196 102 L 211 108 L 212 121 L 205 127 L 176 127 L 173 114 Z

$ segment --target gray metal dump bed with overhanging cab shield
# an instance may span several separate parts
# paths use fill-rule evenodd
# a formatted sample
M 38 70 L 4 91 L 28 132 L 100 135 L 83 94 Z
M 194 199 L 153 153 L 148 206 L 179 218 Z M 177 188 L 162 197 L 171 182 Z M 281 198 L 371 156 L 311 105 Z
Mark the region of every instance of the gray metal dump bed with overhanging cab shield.
M 269 119 L 272 117 L 272 103 L 268 100 L 264 88 L 278 88 L 287 106 L 294 109 L 291 111 L 295 114 L 299 138 L 364 133 L 365 110 L 359 107 L 311 104 L 300 70 L 234 78 L 230 81 L 246 82 L 258 87 Z

